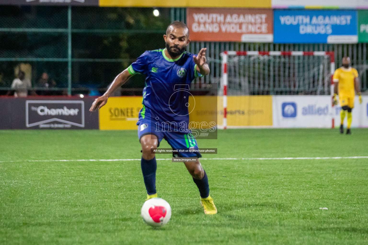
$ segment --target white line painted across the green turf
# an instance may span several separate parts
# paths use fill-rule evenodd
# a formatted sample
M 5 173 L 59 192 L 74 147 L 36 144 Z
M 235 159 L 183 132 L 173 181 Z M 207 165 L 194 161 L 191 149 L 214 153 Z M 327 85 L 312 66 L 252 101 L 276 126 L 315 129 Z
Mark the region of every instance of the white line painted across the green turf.
M 201 160 L 320 160 L 320 159 L 360 159 L 368 156 L 332 156 L 332 157 L 281 157 L 281 158 L 200 158 Z M 171 160 L 171 158 L 157 158 L 156 160 Z M 115 162 L 141 161 L 141 159 L 75 159 L 75 160 L 18 160 L 0 162 Z

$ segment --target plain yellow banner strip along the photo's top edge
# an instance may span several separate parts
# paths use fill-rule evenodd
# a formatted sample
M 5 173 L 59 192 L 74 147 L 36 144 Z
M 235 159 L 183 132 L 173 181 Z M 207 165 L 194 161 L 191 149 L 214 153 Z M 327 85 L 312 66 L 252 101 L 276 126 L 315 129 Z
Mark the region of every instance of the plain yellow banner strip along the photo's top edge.
M 100 7 L 201 7 L 201 8 L 271 8 L 271 0 L 100 0 Z

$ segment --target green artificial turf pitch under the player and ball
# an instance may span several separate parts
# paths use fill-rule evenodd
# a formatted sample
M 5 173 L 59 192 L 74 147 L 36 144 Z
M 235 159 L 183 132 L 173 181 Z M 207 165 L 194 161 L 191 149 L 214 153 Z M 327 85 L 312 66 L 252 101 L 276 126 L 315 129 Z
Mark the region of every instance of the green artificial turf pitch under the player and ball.
M 368 156 L 368 129 L 352 131 L 219 130 L 198 144 L 218 148 L 204 158 Z M 30 161 L 139 159 L 136 131 L 6 130 L 0 142 L 0 244 L 368 244 L 368 159 L 203 159 L 213 216 L 184 164 L 161 160 L 172 216 L 155 229 L 140 216 L 139 161 Z

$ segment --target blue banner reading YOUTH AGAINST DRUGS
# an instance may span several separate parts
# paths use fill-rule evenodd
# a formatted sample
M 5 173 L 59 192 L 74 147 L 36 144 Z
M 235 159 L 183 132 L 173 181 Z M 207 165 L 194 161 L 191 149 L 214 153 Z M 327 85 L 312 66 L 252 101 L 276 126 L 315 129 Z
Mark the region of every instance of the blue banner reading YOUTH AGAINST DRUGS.
M 357 43 L 357 11 L 275 10 L 275 43 Z

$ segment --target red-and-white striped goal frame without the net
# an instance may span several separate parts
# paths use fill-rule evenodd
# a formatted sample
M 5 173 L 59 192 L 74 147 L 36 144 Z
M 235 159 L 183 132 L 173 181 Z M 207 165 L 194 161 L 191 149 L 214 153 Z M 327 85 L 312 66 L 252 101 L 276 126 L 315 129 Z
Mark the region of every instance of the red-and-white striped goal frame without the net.
M 332 99 L 333 99 L 333 90 L 334 90 L 334 84 L 333 84 L 333 73 L 335 72 L 335 56 L 333 52 L 325 52 L 325 51 L 311 51 L 311 52 L 305 52 L 305 51 L 224 51 L 220 54 L 222 57 L 222 96 L 223 96 L 223 125 L 220 128 L 226 129 L 228 127 L 227 124 L 227 95 L 228 95 L 228 85 L 229 85 L 229 59 L 235 58 L 235 57 L 323 57 L 326 59 L 329 58 L 329 69 L 326 70 L 326 78 L 330 80 L 331 86 L 330 91 L 325 91 L 325 94 L 330 94 L 331 96 L 331 104 L 332 107 L 334 107 Z M 244 65 L 244 64 L 243 64 Z M 328 67 L 328 64 L 326 65 Z M 328 71 L 329 70 L 329 71 Z M 310 76 L 311 74 L 308 74 L 306 72 L 305 78 Z M 311 80 L 311 78 L 309 78 Z M 327 84 L 328 81 L 326 81 Z M 327 86 L 326 86 L 327 87 Z M 319 94 L 319 93 L 317 93 Z M 332 128 L 335 127 L 335 122 L 332 117 Z

